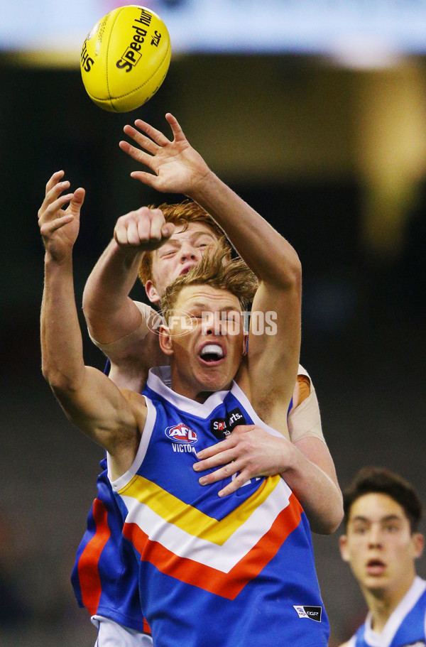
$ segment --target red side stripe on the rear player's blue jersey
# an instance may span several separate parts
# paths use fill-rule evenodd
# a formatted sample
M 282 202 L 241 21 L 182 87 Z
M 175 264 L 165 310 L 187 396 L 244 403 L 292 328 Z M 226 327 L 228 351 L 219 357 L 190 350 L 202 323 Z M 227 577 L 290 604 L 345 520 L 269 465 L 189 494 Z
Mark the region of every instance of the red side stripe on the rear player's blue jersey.
M 97 565 L 104 545 L 109 540 L 111 532 L 107 521 L 108 512 L 100 499 L 93 501 L 93 518 L 96 523 L 96 533 L 84 548 L 78 562 L 78 576 L 82 591 L 82 602 L 90 614 L 97 612 L 101 599 L 102 585 Z

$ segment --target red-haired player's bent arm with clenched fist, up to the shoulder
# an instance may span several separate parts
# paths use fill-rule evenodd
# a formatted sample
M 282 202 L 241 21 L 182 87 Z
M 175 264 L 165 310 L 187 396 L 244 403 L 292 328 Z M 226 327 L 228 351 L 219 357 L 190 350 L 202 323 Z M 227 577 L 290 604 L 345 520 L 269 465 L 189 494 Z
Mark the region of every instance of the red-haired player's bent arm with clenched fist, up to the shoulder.
M 138 276 L 141 254 L 166 241 L 173 224 L 160 210 L 141 207 L 121 216 L 114 239 L 94 266 L 83 293 L 83 311 L 92 341 L 111 361 L 109 377 L 117 386 L 141 391 L 148 369 L 161 363 L 157 336 L 148 326 L 155 316 L 129 293 Z

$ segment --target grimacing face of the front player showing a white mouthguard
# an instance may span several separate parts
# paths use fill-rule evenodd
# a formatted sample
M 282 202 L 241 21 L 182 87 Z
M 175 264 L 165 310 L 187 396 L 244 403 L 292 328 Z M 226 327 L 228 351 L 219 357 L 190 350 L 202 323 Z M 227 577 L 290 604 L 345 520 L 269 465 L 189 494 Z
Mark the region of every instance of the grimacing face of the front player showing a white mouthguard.
M 209 393 L 229 388 L 241 364 L 241 306 L 226 290 L 188 286 L 178 296 L 175 313 L 168 338 L 173 390 L 204 401 Z

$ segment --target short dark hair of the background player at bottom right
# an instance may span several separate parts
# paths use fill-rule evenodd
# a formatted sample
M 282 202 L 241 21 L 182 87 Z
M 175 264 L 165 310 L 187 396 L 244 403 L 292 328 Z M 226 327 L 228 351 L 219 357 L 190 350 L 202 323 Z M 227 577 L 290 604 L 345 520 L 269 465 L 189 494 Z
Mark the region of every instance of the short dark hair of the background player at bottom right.
M 417 491 L 399 474 L 386 467 L 363 467 L 343 492 L 344 528 L 346 531 L 351 506 L 364 494 L 387 494 L 401 506 L 410 522 L 411 532 L 417 532 L 423 506 Z

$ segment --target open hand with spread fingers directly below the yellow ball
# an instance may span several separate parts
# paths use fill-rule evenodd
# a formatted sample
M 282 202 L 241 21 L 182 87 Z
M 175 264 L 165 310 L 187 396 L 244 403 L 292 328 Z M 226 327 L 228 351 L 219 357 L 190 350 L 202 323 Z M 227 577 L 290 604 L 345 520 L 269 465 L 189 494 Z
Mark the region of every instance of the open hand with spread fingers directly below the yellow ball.
M 173 141 L 162 132 L 136 119 L 135 126 L 124 126 L 124 132 L 138 145 L 120 141 L 119 146 L 133 160 L 147 166 L 153 173 L 135 170 L 132 178 L 160 192 L 191 195 L 197 184 L 209 173 L 209 167 L 195 148 L 192 148 L 175 117 L 168 113 Z

